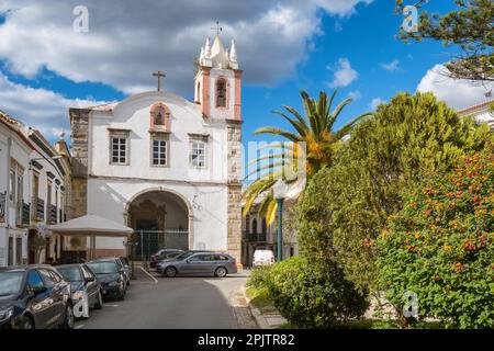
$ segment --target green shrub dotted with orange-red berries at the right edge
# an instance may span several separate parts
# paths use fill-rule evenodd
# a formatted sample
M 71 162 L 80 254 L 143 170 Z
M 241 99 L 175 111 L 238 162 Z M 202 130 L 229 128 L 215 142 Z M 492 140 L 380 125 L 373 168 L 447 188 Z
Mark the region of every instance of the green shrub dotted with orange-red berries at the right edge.
M 388 299 L 400 314 L 406 291 L 418 315 L 446 327 L 494 326 L 494 152 L 464 157 L 392 216 L 377 240 Z M 402 318 L 403 319 L 403 318 Z M 406 324 L 405 324 L 406 325 Z

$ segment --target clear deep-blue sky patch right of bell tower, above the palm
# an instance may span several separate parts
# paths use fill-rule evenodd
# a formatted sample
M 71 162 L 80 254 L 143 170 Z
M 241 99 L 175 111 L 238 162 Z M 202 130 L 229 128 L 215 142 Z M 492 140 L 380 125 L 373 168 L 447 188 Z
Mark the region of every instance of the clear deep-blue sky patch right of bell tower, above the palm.
M 448 60 L 447 53 L 451 49 L 435 42 L 405 44 L 396 38 L 403 16 L 394 14 L 393 2 L 381 0 L 360 5 L 357 13 L 347 19 L 324 14 L 324 35 L 316 37 L 308 59 L 299 65 L 295 77 L 271 89 L 248 87 L 244 90 L 245 135 L 249 137 L 268 121 L 272 124 L 280 122 L 282 118 L 270 111 L 284 104 L 301 111 L 299 91 L 302 89 L 313 97 L 322 89 L 327 92 L 337 89 L 337 102 L 351 92 L 359 92 L 360 98 L 344 110 L 336 128 L 361 113 L 372 111 L 373 99 L 389 101 L 400 91 L 414 93 L 429 69 Z M 440 12 L 452 8 L 447 5 L 450 1 L 440 3 L 430 8 Z M 334 71 L 328 66 L 334 66 L 339 58 L 349 60 L 358 78 L 347 87 L 332 88 L 328 82 L 333 81 Z M 396 60 L 396 70 L 386 71 L 381 66 Z

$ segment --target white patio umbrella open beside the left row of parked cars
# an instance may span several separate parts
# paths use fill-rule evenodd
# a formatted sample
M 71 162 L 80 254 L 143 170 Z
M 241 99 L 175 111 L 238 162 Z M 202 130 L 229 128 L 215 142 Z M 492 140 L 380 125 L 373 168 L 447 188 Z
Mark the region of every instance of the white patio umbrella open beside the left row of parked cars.
M 89 237 L 91 259 L 94 259 L 96 256 L 96 237 L 127 238 L 134 231 L 127 226 L 97 215 L 74 218 L 48 226 L 47 229 L 63 236 Z

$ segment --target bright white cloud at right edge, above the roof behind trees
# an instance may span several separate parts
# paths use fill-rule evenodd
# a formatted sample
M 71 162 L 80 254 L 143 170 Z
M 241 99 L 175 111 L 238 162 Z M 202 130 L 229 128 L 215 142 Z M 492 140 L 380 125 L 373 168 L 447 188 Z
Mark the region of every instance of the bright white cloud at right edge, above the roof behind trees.
M 487 99 L 485 93 L 493 88 L 492 82 L 481 86 L 467 80 L 454 80 L 446 77 L 445 70 L 442 65 L 429 69 L 420 80 L 417 91 L 430 91 L 437 99 L 456 110 L 469 107 Z

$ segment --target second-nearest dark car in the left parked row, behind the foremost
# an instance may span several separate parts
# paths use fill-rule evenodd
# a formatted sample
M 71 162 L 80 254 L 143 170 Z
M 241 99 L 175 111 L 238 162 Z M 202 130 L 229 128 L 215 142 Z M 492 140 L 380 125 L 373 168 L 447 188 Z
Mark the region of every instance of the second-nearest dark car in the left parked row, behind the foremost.
M 96 274 L 86 264 L 58 265 L 57 271 L 70 283 L 74 315 L 76 318 L 89 318 L 89 307 L 103 307 L 101 284 Z

